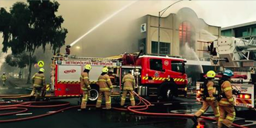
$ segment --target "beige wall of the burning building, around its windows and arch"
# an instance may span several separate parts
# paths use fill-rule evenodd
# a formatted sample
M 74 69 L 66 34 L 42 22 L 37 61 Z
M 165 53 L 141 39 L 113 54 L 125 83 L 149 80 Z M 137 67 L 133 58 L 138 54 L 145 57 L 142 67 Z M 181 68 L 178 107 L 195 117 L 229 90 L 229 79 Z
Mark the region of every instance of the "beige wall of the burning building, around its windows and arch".
M 146 18 L 145 18 L 146 17 Z M 147 54 L 151 54 L 151 41 L 158 41 L 158 17 L 146 15 L 147 23 Z M 183 21 L 189 21 L 195 32 L 195 40 L 212 41 L 220 37 L 220 27 L 210 26 L 199 19 L 196 13 L 189 8 L 182 8 L 177 14 L 169 14 L 160 20 L 160 42 L 170 43 L 170 55 L 180 56 L 180 39 L 179 39 L 179 26 Z M 199 58 L 203 57 L 202 50 L 207 44 L 195 42 L 196 54 Z

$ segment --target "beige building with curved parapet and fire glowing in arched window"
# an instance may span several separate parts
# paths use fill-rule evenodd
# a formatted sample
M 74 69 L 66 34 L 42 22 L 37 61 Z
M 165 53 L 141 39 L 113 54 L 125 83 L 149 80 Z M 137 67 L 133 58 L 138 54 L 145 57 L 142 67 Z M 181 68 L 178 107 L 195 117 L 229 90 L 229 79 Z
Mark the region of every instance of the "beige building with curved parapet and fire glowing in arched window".
M 146 15 L 140 19 L 140 24 L 144 29 L 140 33 L 140 49 L 145 54 L 157 54 L 158 17 Z M 160 54 L 205 61 L 209 45 L 206 42 L 220 37 L 220 30 L 198 18 L 192 9 L 182 8 L 176 14 L 160 18 Z

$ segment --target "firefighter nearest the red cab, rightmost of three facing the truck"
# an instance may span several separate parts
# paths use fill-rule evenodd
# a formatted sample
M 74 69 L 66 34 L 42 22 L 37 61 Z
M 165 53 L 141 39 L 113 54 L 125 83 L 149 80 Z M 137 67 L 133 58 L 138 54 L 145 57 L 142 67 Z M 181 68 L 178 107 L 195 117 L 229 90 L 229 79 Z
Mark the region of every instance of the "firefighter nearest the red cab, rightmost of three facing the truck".
M 128 74 L 123 77 L 122 83 L 124 83 L 124 87 L 123 87 L 123 96 L 121 98 L 121 106 L 124 106 L 125 97 L 127 93 L 130 93 L 131 104 L 132 106 L 134 106 L 135 100 L 134 100 L 134 94 L 132 91 L 135 89 L 135 79 L 132 76 L 132 71 L 129 71 Z

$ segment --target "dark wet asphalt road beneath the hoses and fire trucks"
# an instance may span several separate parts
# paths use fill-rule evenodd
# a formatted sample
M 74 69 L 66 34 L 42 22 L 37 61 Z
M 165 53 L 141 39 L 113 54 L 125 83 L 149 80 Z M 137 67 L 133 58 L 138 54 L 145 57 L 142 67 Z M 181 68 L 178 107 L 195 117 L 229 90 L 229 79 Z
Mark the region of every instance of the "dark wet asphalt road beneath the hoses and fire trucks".
M 14 85 L 7 85 L 8 89 L 0 85 L 0 94 L 29 94 L 30 90 L 26 88 L 17 88 Z M 15 88 L 16 87 L 16 88 Z M 10 99 L 9 99 L 10 100 Z M 27 99 L 19 99 L 27 100 Z M 118 107 L 120 97 L 112 98 L 112 106 Z M 68 101 L 70 106 L 78 105 L 79 98 L 58 99 L 51 100 L 54 102 Z M 126 99 L 128 101 L 128 98 Z M 104 103 L 104 101 L 103 101 Z M 88 104 L 94 104 L 89 102 Z M 154 106 L 149 107 L 147 112 L 157 113 L 180 113 L 193 114 L 200 109 L 200 103 L 191 98 L 175 98 L 172 102 L 156 103 L 152 102 Z M 127 104 L 128 105 L 128 104 Z M 31 115 L 11 115 L 0 116 L 0 120 L 23 118 L 29 116 L 36 116 L 45 114 L 49 111 L 56 111 L 65 107 L 57 108 L 29 108 L 25 113 L 32 113 Z M 1 111 L 5 113 L 7 111 Z M 8 111 L 10 112 L 10 111 Z M 236 120 L 234 123 L 244 125 L 250 128 L 256 127 L 256 113 L 253 110 L 238 110 L 236 113 Z M 213 117 L 214 114 L 209 108 L 204 116 Z M 203 120 L 205 122 L 204 128 L 217 128 L 217 124 L 212 121 Z M 131 112 L 117 111 L 117 110 L 96 110 L 94 107 L 87 111 L 80 111 L 79 108 L 71 108 L 61 113 L 51 116 L 45 116 L 33 120 L 1 123 L 1 128 L 81 128 L 81 127 L 132 127 L 132 128 L 196 128 L 189 118 L 181 117 L 160 117 L 160 116 L 143 116 Z

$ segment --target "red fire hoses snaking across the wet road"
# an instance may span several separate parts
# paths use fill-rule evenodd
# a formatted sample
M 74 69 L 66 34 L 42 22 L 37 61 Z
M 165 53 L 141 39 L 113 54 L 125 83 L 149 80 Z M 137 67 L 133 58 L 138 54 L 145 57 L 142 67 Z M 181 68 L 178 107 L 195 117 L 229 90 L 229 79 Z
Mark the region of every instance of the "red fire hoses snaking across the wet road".
M 191 117 L 194 116 L 192 114 L 171 114 L 171 113 L 142 112 L 143 110 L 147 110 L 149 108 L 149 106 L 151 106 L 152 104 L 148 100 L 140 97 L 137 93 L 135 93 L 135 92 L 133 92 L 133 93 L 135 94 L 135 96 L 137 96 L 140 99 L 140 102 L 138 104 L 136 104 L 136 106 L 129 106 L 127 109 L 126 108 L 115 108 L 114 107 L 113 109 L 121 110 L 121 111 L 130 111 L 130 112 L 133 112 L 133 113 L 136 113 L 136 114 L 148 115 L 148 116 L 175 116 L 175 117 L 178 116 L 178 117 L 185 117 L 185 118 L 191 118 Z M 3 103 L 4 102 L 0 102 L 0 104 L 3 104 Z M 39 105 L 39 106 L 31 105 L 31 104 L 40 104 L 40 103 L 49 103 L 49 102 L 46 102 L 46 101 L 35 102 L 35 101 L 33 101 L 33 102 L 22 102 L 22 103 L 14 104 L 14 105 L 0 105 L 0 111 L 1 110 L 9 110 L 9 109 L 23 109 L 22 112 L 25 112 L 25 111 L 28 110 L 27 108 L 19 108 L 19 107 L 49 108 L 49 107 L 67 106 L 67 105 L 70 104 L 69 102 L 65 102 L 65 103 L 57 104 L 57 105 L 43 105 L 43 106 L 41 106 L 41 105 Z M 141 103 L 143 103 L 144 105 L 140 105 Z M 95 106 L 95 105 L 87 105 L 87 106 Z M 46 113 L 46 114 L 42 114 L 42 115 L 30 116 L 30 117 L 25 117 L 25 118 L 0 120 L 0 123 L 24 121 L 24 120 L 28 120 L 28 119 L 36 119 L 36 118 L 40 118 L 40 117 L 43 117 L 43 116 L 53 115 L 53 114 L 56 114 L 56 113 L 59 113 L 61 111 L 68 110 L 68 109 L 71 109 L 71 108 L 79 108 L 79 107 L 80 106 L 70 106 L 70 107 L 67 107 L 67 108 L 62 108 L 60 110 L 54 111 L 52 113 Z M 12 115 L 12 114 L 17 114 L 17 113 L 21 113 L 21 111 L 12 112 L 12 113 L 4 113 L 0 116 Z M 206 117 L 206 116 L 201 116 L 201 118 L 206 119 L 206 120 L 215 121 L 214 118 L 210 118 L 210 117 Z M 247 127 L 244 127 L 244 126 L 241 126 L 241 125 L 238 125 L 238 124 L 232 124 L 232 125 L 235 126 L 235 127 L 238 127 L 238 128 L 247 128 Z

